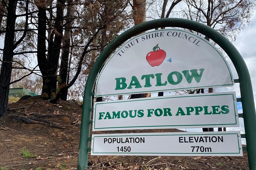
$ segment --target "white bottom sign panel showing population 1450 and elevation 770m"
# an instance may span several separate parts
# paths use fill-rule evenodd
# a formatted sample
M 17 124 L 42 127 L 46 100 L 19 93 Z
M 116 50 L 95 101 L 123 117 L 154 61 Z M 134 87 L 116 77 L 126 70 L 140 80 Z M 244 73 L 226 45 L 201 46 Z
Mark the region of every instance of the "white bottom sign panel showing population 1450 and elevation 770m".
M 239 131 L 92 135 L 91 155 L 243 156 Z

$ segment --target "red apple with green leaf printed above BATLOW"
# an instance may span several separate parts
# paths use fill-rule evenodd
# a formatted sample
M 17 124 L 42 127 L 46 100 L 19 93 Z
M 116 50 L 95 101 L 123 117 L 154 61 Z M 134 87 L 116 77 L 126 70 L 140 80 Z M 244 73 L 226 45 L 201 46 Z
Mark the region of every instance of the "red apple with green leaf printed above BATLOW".
M 154 66 L 159 66 L 160 64 L 162 64 L 165 57 L 166 57 L 166 52 L 164 50 L 161 50 L 158 47 L 158 44 L 156 44 L 156 46 L 153 48 L 153 51 L 151 51 L 147 54 L 146 59 L 147 59 L 149 65 L 154 67 Z

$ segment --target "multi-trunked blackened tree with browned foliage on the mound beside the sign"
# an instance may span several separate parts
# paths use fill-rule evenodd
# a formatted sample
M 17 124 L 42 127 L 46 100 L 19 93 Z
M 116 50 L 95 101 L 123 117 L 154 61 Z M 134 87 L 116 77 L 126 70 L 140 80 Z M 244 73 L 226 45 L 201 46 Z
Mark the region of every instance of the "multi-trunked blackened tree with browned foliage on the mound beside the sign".
M 89 58 L 93 50 L 101 50 L 120 29 L 124 28 L 120 23 L 124 20 L 126 13 L 124 9 L 127 5 L 125 1 L 121 3 L 76 1 L 74 3 L 72 0 L 58 0 L 56 2 L 56 4 L 47 4 L 41 0 L 36 2 L 38 8 L 37 58 L 43 76 L 42 92 L 48 98 L 55 97 L 52 102 L 59 98 L 67 99 L 68 88 L 77 80 L 84 60 Z M 105 12 L 105 9 L 108 11 Z M 48 29 L 48 36 L 45 36 L 46 29 Z M 98 36 L 101 37 L 101 42 L 92 45 Z M 94 59 L 90 61 L 89 67 L 93 65 L 93 61 Z M 69 81 L 70 77 L 71 81 Z

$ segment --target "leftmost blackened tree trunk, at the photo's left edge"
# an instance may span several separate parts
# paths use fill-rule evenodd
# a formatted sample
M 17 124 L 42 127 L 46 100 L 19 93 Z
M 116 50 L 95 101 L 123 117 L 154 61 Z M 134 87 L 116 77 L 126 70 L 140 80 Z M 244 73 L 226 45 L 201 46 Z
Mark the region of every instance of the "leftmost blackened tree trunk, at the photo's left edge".
M 4 37 L 4 51 L 2 68 L 0 73 L 0 116 L 8 113 L 8 95 L 12 74 L 12 59 L 14 48 L 15 21 L 16 21 L 16 0 L 9 0 L 7 7 L 6 32 Z

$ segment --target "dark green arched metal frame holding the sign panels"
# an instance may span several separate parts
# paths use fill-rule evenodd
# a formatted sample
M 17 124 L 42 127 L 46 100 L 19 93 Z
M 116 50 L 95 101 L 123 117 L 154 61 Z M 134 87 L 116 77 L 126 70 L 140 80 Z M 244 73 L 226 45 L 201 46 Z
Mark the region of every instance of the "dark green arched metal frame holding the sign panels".
M 202 23 L 180 18 L 164 18 L 155 19 L 151 21 L 144 22 L 137 26 L 134 26 L 118 37 L 116 37 L 109 45 L 100 53 L 100 56 L 92 66 L 92 70 L 87 78 L 85 88 L 84 88 L 84 102 L 82 111 L 82 123 L 80 131 L 80 143 L 79 143 L 79 154 L 78 154 L 78 170 L 87 170 L 88 165 L 88 151 L 90 138 L 90 126 L 92 123 L 91 112 L 92 112 L 92 96 L 94 95 L 93 87 L 96 81 L 96 77 L 100 72 L 101 67 L 107 58 L 125 41 L 129 40 L 135 35 L 141 32 L 148 31 L 160 27 L 179 27 L 186 28 L 196 32 L 199 32 L 217 43 L 229 56 L 233 62 L 236 71 L 238 73 L 238 78 L 235 83 L 240 83 L 240 94 L 241 98 L 237 101 L 242 102 L 243 114 L 239 117 L 244 118 L 244 130 L 246 134 L 246 147 L 243 147 L 244 151 L 247 151 L 249 169 L 256 170 L 256 112 L 255 104 L 252 92 L 252 82 L 248 68 L 244 62 L 244 59 L 235 48 L 235 46 L 222 34 L 208 27 Z M 242 135 L 245 138 L 245 135 Z

